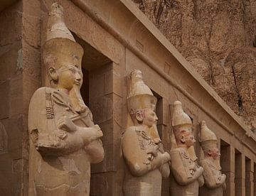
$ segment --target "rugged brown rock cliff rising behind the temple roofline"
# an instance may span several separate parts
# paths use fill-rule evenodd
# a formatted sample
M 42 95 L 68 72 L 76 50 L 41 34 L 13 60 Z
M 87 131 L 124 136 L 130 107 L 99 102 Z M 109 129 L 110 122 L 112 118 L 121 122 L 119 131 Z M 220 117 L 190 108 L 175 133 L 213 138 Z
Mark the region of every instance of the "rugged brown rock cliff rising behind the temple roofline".
M 256 131 L 256 0 L 132 0 Z

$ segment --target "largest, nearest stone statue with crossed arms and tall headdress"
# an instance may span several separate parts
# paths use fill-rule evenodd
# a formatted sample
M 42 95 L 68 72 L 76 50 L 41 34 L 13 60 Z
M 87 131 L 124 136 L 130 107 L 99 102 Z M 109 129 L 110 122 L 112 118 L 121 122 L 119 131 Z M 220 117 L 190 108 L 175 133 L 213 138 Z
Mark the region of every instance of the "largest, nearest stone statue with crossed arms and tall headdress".
M 37 89 L 28 111 L 29 195 L 89 195 L 90 163 L 104 158 L 102 131 L 80 95 L 83 49 L 63 18 L 53 4 L 43 47 L 53 87 Z

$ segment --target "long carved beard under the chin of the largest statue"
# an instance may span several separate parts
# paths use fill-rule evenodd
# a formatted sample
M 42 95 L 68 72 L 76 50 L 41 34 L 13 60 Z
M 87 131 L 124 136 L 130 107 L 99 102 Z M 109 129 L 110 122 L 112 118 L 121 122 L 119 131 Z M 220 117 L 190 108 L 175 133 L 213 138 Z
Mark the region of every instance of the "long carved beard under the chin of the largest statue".
M 86 111 L 87 106 L 85 102 L 82 100 L 82 96 L 80 93 L 80 86 L 74 85 L 74 87 L 69 92 L 71 104 L 74 107 L 75 111 L 79 114 Z

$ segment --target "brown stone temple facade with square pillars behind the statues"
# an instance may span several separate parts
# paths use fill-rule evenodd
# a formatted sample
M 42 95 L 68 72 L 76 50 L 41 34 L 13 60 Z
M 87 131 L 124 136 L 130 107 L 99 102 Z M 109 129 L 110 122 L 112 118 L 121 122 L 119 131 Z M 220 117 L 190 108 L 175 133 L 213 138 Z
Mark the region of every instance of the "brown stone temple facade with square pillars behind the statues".
M 0 171 L 4 174 L 0 192 L 4 195 L 26 195 L 28 103 L 38 87 L 48 85 L 41 67 L 41 45 L 47 12 L 55 1 L 32 2 L 18 1 L 0 14 L 0 120 L 4 125 L 0 126 L 0 144 L 8 143 L 6 150 L 1 152 L 4 148 L 0 148 Z M 128 0 L 59 2 L 68 28 L 82 40 L 78 43 L 85 42 L 97 51 L 89 58 L 97 59 L 95 63 L 82 65 L 88 71 L 88 104 L 95 124 L 104 133 L 105 160 L 92 166 L 91 195 L 122 195 L 125 165 L 121 138 L 129 124 L 127 75 L 133 69 L 142 70 L 144 82 L 158 98 L 158 129 L 166 150 L 171 148 L 170 108 L 178 99 L 193 119 L 196 139 L 202 120 L 218 137 L 221 166 L 228 177 L 225 195 L 235 195 L 238 186 L 240 195 L 253 195 L 255 135 L 136 6 Z M 83 47 L 90 53 L 86 44 Z M 8 139 L 2 139 L 6 138 L 2 127 Z M 198 141 L 195 151 L 200 158 Z M 162 195 L 169 195 L 169 188 L 169 180 L 164 180 Z

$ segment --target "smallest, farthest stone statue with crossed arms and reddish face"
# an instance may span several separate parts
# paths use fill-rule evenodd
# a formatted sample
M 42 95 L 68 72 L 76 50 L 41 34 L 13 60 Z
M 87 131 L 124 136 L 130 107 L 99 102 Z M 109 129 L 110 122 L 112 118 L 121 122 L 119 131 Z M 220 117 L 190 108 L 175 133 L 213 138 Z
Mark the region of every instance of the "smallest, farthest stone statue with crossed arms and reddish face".
M 206 126 L 206 121 L 201 122 L 199 142 L 204 153 L 204 159 L 200 161 L 203 167 L 205 184 L 199 190 L 199 195 L 222 196 L 225 190 L 225 174 L 221 173 L 220 152 L 217 147 L 217 137 Z

